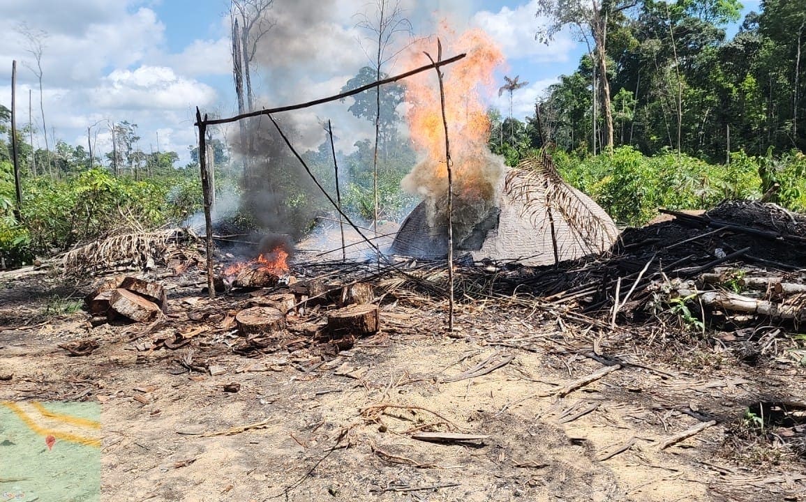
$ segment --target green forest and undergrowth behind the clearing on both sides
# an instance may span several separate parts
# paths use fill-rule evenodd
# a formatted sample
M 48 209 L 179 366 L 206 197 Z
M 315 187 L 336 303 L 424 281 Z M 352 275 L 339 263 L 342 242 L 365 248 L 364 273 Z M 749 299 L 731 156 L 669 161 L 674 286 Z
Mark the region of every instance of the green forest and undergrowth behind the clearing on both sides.
M 509 110 L 490 110 L 492 151 L 515 165 L 549 148 L 566 180 L 624 224 L 646 222 L 659 206 L 710 207 L 725 198 L 764 193 L 791 210 L 806 210 L 806 2 L 762 0 L 760 12 L 744 19 L 737 0 L 611 0 L 594 2 L 598 10 L 580 8 L 589 3 L 538 2 L 555 28 L 570 26 L 590 50 L 524 120 Z M 735 35 L 728 39 L 730 27 Z M 535 44 L 550 34 L 551 27 L 538 32 Z M 362 68 L 344 89 L 375 78 L 374 68 Z M 501 92 L 512 97 L 520 88 L 517 77 L 505 80 Z M 398 128 L 401 86 L 386 85 L 380 93 L 379 218 L 397 220 L 414 202 L 401 191 L 400 180 L 416 157 Z M 374 122 L 376 93 L 359 94 L 346 106 Z M 10 114 L 0 106 L 0 258 L 5 266 L 122 228 L 176 224 L 201 208 L 195 147 L 189 147 L 191 162 L 181 166 L 177 152 L 140 151 L 134 123 L 110 124 L 110 131 L 114 149 L 99 155 L 64 141 L 49 150 L 34 148 L 29 138 L 37 131 L 19 127 L 23 200 L 18 210 Z M 241 179 L 237 145 L 222 135 L 209 140 L 218 197 L 237 199 L 254 179 Z M 364 140 L 354 147 L 339 158 L 342 195 L 347 210 L 370 219 L 375 144 Z M 304 157 L 333 193 L 329 139 L 325 136 L 318 150 Z M 332 216 L 301 176 L 293 156 L 278 154 L 271 189 L 282 200 L 276 206 L 299 220 Z M 243 219 L 243 214 L 250 212 L 229 217 Z

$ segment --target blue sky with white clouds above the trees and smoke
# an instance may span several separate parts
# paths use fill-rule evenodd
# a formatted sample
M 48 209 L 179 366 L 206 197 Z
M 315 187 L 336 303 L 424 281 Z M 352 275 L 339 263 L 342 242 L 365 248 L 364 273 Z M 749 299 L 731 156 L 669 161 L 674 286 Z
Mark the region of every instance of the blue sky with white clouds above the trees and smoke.
M 480 27 L 501 45 L 507 58 L 497 73 L 518 75 L 530 85 L 515 93 L 513 111 L 530 114 L 534 99 L 559 75 L 571 73 L 584 45 L 561 32 L 549 46 L 534 41 L 542 23 L 534 17 L 536 2 L 493 0 L 401 0 L 417 35 L 436 31 L 436 20 L 447 18 L 457 31 Z M 744 2 L 746 11 L 758 0 Z M 19 123 L 28 122 L 27 93 L 35 77 L 26 63 L 26 23 L 44 37 L 44 104 L 48 132 L 68 143 L 90 143 L 110 150 L 108 124 L 128 120 L 139 125 L 143 151 L 177 151 L 183 162 L 195 141 L 193 110 L 235 114 L 232 90 L 228 2 L 224 0 L 0 0 L 0 102 L 10 105 L 10 60 L 18 60 Z M 367 59 L 364 37 L 355 27 L 355 13 L 368 0 L 275 0 L 276 29 L 261 48 L 255 81 L 263 106 L 285 105 L 337 93 Z M 435 14 L 435 12 L 437 14 Z M 299 23 L 305 19 L 305 23 Z M 389 68 L 397 73 L 406 68 Z M 506 113 L 506 97 L 490 97 Z M 36 105 L 35 105 L 36 106 Z M 351 117 L 347 106 L 330 106 L 295 115 L 302 143 L 320 141 L 319 122 L 332 118 L 344 131 L 340 148 L 351 149 L 369 134 L 366 121 Z M 38 121 L 37 110 L 34 122 Z M 37 127 L 41 130 L 41 125 Z M 221 134 L 226 134 L 226 130 Z M 35 143 L 44 146 L 41 138 Z

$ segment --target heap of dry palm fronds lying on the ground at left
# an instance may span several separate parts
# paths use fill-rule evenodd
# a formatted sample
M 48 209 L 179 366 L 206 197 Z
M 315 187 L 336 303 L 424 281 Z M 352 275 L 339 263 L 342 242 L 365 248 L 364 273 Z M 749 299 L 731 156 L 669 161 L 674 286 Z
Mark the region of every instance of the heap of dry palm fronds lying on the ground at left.
M 114 235 L 67 252 L 64 273 L 76 275 L 118 266 L 147 268 L 166 263 L 169 255 L 179 251 L 177 243 L 187 237 L 194 236 L 179 229 Z

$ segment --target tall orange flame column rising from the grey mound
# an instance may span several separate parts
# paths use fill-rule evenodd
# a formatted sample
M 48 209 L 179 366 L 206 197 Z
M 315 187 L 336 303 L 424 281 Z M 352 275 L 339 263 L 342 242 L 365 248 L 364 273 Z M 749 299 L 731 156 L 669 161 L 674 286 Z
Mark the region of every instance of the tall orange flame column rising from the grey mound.
M 492 93 L 493 72 L 504 63 L 504 56 L 479 29 L 455 35 L 443 22 L 440 40 L 443 56 L 467 53 L 462 60 L 441 68 L 454 177 L 453 221 L 460 242 L 477 222 L 488 218 L 495 205 L 503 164 L 487 147 L 490 122 L 484 95 Z M 414 44 L 405 65 L 422 64 L 422 52 L 435 58 L 436 45 L 434 39 Z M 422 161 L 405 176 L 402 185 L 424 197 L 430 226 L 443 226 L 447 224 L 447 167 L 438 81 L 434 72 L 424 72 L 403 83 L 409 103 L 409 135 Z

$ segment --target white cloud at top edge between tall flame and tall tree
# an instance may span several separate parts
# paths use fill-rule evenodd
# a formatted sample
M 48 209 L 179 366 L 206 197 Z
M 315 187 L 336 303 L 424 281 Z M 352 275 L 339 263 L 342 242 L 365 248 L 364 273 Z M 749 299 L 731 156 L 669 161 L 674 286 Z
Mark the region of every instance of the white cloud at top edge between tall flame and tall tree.
M 574 50 L 575 42 L 561 31 L 549 45 L 541 44 L 534 39 L 538 27 L 545 23 L 535 17 L 538 10 L 537 0 L 532 0 L 514 10 L 508 6 L 501 7 L 497 13 L 481 10 L 473 16 L 472 23 L 487 31 L 501 44 L 501 49 L 508 60 L 528 59 L 533 62 L 564 61 Z

